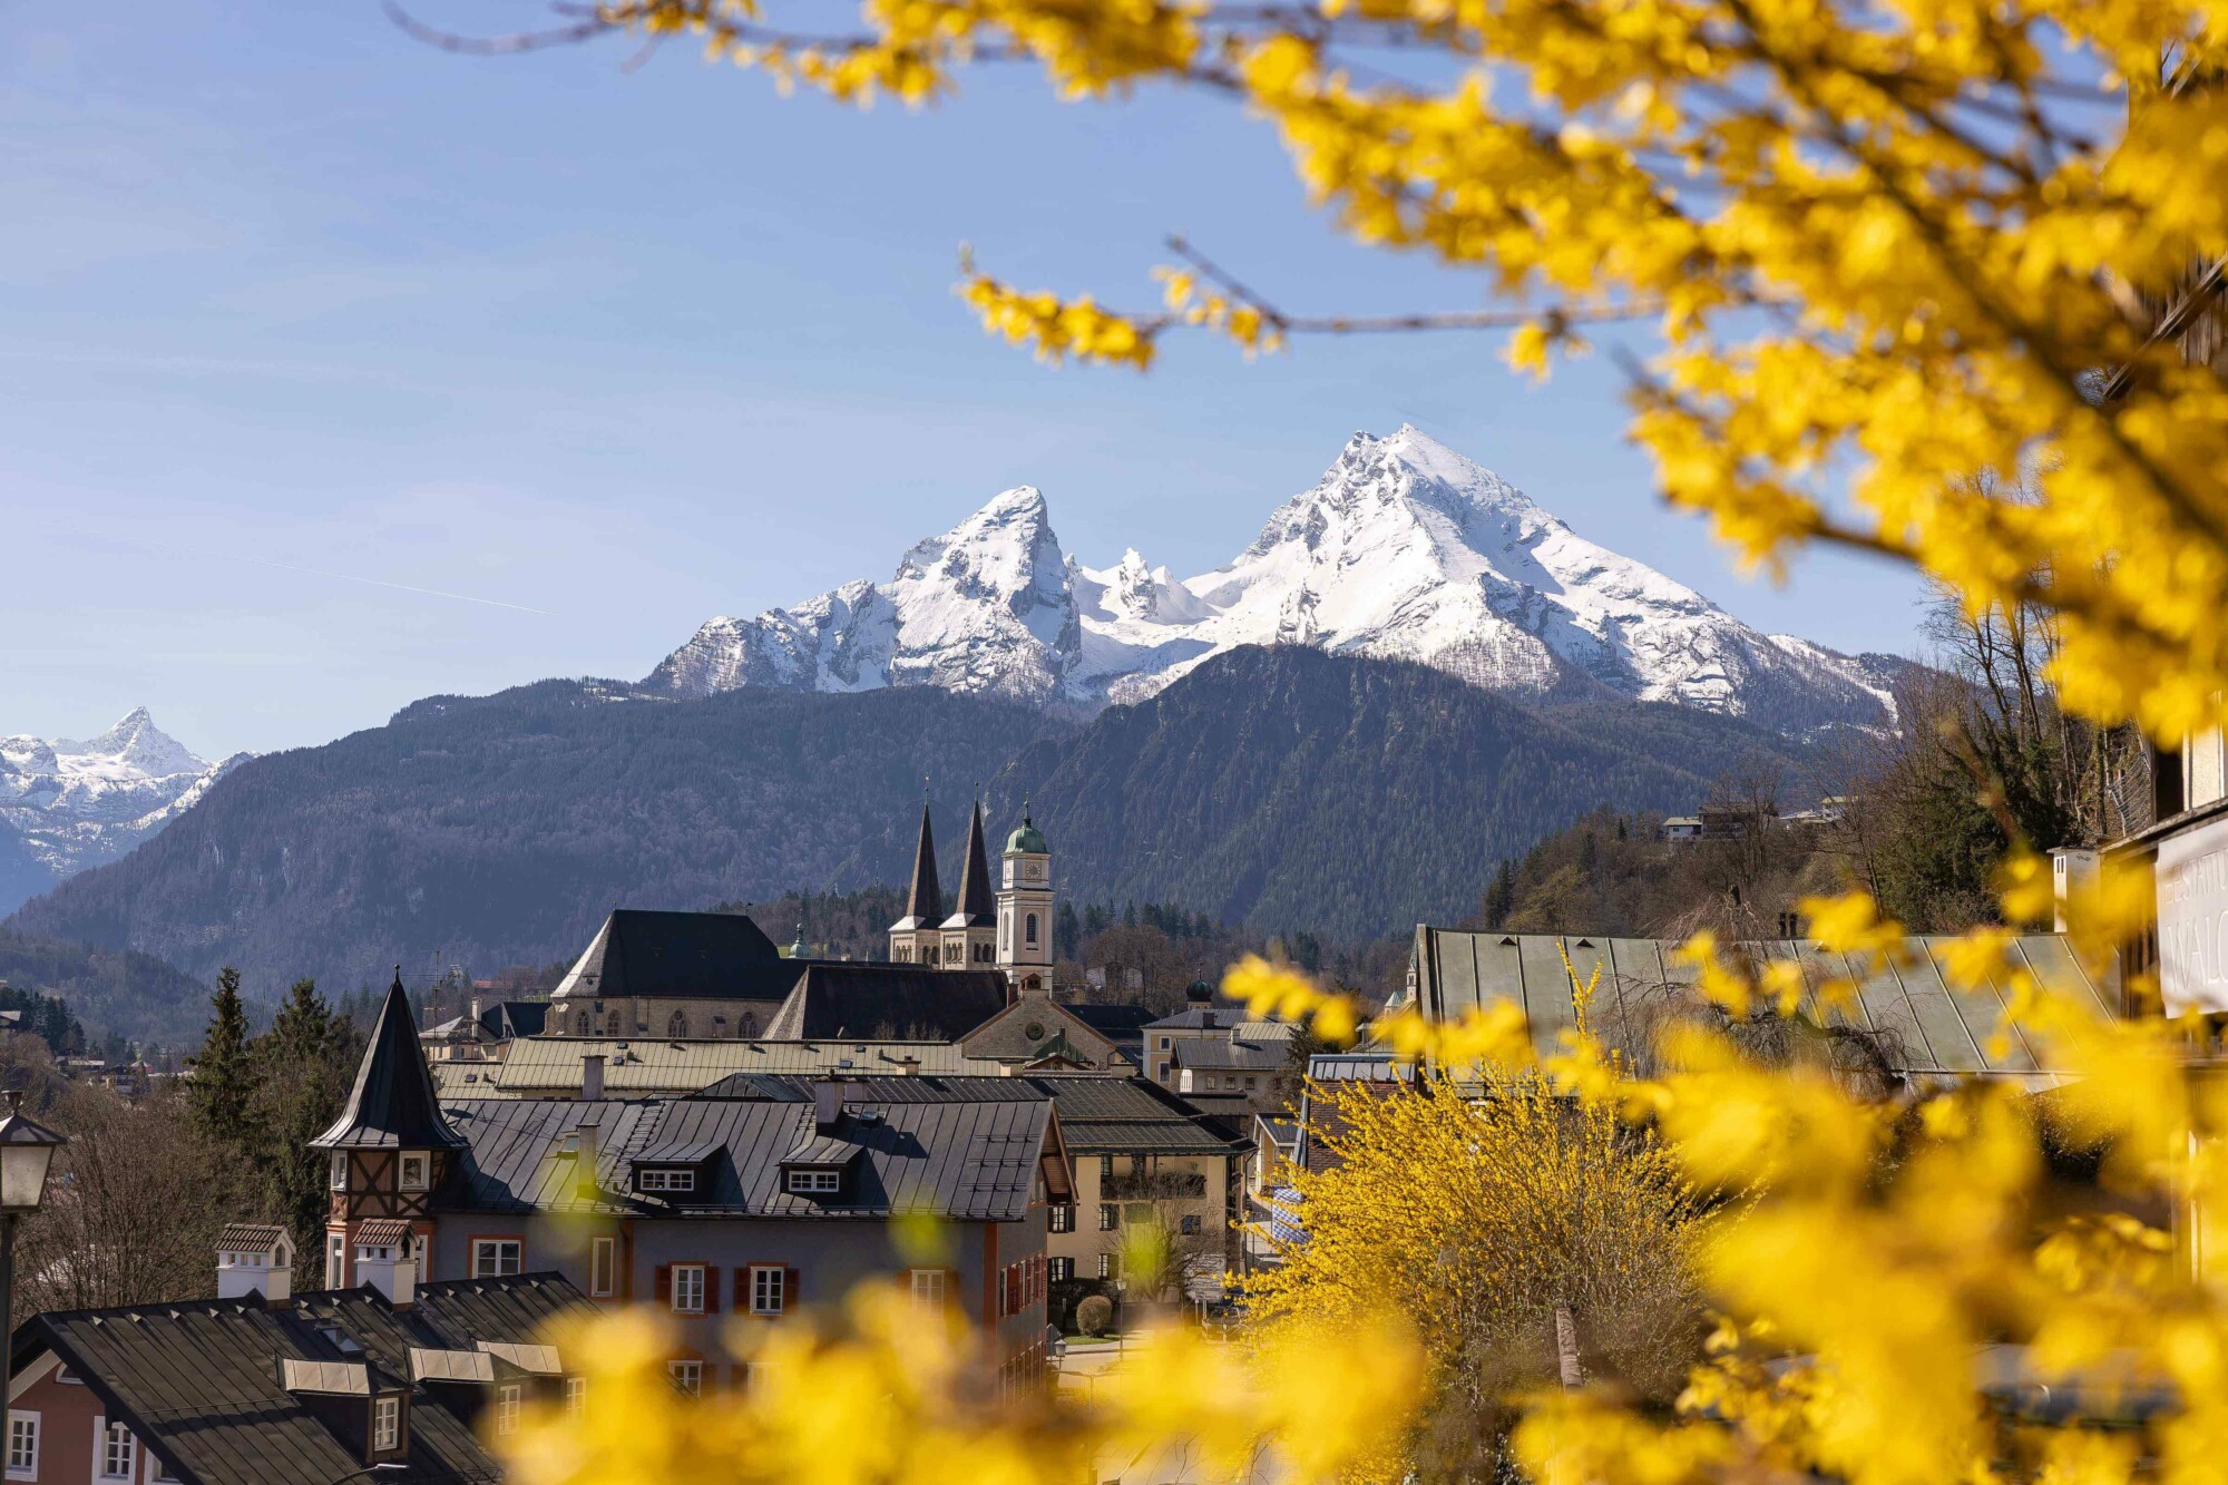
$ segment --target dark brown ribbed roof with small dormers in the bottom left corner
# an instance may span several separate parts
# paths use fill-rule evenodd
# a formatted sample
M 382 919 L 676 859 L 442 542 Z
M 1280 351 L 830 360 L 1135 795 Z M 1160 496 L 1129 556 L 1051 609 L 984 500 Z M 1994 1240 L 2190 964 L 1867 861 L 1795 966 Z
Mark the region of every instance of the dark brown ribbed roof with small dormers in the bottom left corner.
M 472 1289 L 466 1302 L 450 1298 Z M 102 1409 L 187 1485 L 323 1485 L 363 1458 L 281 1385 L 281 1360 L 370 1362 L 381 1385 L 403 1385 L 410 1347 L 472 1349 L 528 1338 L 548 1318 L 586 1307 L 555 1273 L 472 1284 L 421 1284 L 412 1311 L 372 1289 L 258 1300 L 187 1300 L 120 1309 L 49 1311 L 16 1331 L 13 1367 L 56 1351 Z M 345 1336 L 345 1351 L 330 1333 Z M 461 1411 L 410 1387 L 410 1452 L 383 1478 L 410 1485 L 495 1483 L 495 1460 Z

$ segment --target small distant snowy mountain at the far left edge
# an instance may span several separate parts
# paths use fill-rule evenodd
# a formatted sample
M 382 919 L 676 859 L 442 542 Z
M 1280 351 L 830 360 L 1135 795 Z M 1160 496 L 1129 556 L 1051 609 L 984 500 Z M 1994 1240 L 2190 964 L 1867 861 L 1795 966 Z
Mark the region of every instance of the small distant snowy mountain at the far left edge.
M 0 738 L 0 912 L 123 856 L 245 758 L 194 756 L 145 707 L 98 738 Z

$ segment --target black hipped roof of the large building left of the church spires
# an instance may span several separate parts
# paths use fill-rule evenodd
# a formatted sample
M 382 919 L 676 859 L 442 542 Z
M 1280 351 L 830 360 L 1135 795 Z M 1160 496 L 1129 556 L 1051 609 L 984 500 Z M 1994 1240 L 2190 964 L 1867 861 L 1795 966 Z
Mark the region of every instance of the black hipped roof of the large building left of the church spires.
M 793 981 L 773 939 L 740 912 L 615 908 L 553 997 L 778 1001 Z

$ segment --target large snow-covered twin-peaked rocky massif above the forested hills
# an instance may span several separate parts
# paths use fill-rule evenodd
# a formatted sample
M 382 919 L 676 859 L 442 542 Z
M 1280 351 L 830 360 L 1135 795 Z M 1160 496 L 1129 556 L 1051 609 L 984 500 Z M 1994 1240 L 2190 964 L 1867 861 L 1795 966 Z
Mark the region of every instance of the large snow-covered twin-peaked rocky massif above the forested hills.
M 1243 644 L 1410 660 L 1528 698 L 1669 702 L 1785 736 L 1894 725 L 1898 662 L 1756 631 L 1406 426 L 1357 433 L 1212 573 L 1179 580 L 1134 549 L 1085 566 L 1023 486 L 918 544 L 885 584 L 711 620 L 646 685 L 934 685 L 1098 707 Z

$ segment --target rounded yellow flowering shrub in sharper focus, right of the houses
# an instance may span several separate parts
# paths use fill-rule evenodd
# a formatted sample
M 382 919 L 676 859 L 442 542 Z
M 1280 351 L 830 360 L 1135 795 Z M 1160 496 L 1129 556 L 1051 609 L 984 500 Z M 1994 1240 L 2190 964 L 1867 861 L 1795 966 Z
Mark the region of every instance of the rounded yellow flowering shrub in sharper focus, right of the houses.
M 1421 1338 L 1419 1425 L 1377 1478 L 1491 1478 L 1522 1400 L 1560 1374 L 1557 1307 L 1600 1385 L 1669 1405 L 1702 1345 L 1702 1202 L 1615 1099 L 1537 1070 L 1475 1084 L 1310 1086 L 1332 1164 L 1294 1171 L 1303 1240 L 1245 1280 L 1270 1329 L 1359 1329 L 1386 1307 Z

